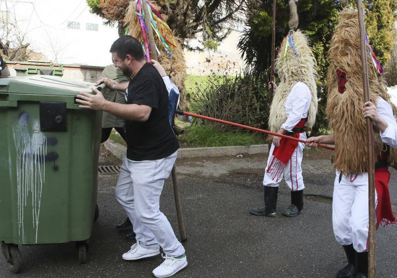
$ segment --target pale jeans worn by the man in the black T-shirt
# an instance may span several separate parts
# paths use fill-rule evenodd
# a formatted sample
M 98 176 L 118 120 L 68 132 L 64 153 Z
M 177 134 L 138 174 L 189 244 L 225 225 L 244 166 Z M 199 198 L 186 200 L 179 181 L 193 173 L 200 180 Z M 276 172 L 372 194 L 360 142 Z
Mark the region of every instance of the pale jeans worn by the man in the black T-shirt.
M 170 222 L 160 212 L 160 195 L 177 158 L 131 161 L 124 158 L 116 198 L 130 218 L 136 240 L 147 248 L 160 245 L 167 255 L 182 256 L 185 249 L 176 238 Z

